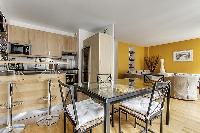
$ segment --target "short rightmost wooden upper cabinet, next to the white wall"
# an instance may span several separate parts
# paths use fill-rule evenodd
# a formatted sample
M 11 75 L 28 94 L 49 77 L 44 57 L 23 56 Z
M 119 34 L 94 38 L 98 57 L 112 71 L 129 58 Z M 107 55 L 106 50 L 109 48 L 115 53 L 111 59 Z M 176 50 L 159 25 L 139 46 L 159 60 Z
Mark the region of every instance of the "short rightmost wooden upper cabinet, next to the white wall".
M 76 37 L 64 36 L 62 52 L 76 53 L 77 52 L 76 42 L 77 42 Z

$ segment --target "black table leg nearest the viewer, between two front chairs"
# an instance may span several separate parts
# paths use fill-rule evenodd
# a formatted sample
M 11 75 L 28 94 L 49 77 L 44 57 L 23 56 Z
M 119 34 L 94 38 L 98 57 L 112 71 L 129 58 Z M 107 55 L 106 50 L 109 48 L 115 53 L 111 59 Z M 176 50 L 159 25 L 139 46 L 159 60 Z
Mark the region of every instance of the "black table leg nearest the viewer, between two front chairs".
M 110 103 L 104 103 L 104 133 L 110 133 Z

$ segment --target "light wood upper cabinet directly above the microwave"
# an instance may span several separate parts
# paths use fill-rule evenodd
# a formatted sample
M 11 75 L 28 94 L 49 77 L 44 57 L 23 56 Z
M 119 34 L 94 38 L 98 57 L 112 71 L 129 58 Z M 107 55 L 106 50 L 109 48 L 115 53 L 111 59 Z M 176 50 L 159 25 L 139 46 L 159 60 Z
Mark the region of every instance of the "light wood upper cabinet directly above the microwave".
M 8 26 L 8 41 L 11 43 L 29 44 L 28 29 L 19 26 Z

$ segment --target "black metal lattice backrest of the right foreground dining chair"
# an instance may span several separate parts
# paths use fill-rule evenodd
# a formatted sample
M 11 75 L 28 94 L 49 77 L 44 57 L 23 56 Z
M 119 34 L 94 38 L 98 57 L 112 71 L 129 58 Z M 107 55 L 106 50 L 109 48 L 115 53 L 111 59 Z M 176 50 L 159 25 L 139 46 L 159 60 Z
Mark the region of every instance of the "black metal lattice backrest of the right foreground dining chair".
M 161 81 L 161 82 L 155 82 L 151 96 L 150 96 L 150 102 L 148 106 L 148 111 L 147 111 L 147 117 L 152 116 L 155 112 L 161 111 L 164 107 L 164 102 L 165 98 L 168 95 L 168 92 L 171 87 L 171 82 L 170 81 Z M 159 98 L 154 99 L 155 95 L 158 95 Z

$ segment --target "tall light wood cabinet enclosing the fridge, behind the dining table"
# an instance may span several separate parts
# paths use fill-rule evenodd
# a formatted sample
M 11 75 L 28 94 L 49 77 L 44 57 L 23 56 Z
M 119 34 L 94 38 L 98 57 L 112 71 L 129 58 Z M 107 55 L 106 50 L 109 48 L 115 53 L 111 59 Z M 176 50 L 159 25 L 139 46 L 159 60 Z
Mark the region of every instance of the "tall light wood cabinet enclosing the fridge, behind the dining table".
M 89 48 L 88 80 L 97 82 L 97 74 L 112 73 L 112 36 L 97 33 L 84 40 L 84 48 Z M 83 57 L 84 58 L 84 57 Z

